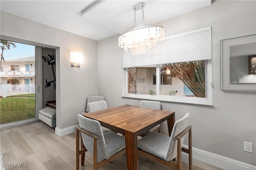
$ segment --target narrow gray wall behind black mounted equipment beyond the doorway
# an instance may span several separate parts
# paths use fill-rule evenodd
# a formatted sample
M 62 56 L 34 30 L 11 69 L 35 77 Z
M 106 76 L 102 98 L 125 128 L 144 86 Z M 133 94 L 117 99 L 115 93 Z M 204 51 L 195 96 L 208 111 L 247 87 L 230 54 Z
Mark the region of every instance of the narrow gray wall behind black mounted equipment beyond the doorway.
M 42 56 L 47 57 L 49 55 L 55 55 L 55 49 L 43 48 Z M 56 76 L 56 66 L 53 65 L 55 76 Z M 48 65 L 47 62 L 44 62 L 42 58 L 42 92 L 43 92 L 43 107 L 45 107 L 47 101 L 56 100 L 56 90 L 53 90 L 53 84 L 50 87 L 45 88 L 45 80 L 48 82 L 54 80 L 54 76 L 52 74 L 52 66 Z

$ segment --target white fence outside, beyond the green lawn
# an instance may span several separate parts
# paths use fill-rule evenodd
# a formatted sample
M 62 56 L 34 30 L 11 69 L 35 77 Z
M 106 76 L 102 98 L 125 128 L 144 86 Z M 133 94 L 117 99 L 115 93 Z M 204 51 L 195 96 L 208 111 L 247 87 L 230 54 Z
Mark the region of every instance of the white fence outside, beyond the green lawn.
M 0 96 L 3 97 L 17 94 L 29 94 L 35 92 L 35 84 L 0 84 Z

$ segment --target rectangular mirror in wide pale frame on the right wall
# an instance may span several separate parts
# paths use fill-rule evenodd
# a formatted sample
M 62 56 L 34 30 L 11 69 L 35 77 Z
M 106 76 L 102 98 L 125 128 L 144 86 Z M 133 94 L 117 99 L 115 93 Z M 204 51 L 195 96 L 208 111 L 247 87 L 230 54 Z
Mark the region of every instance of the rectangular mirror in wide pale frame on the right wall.
M 256 91 L 256 34 L 220 40 L 220 90 Z

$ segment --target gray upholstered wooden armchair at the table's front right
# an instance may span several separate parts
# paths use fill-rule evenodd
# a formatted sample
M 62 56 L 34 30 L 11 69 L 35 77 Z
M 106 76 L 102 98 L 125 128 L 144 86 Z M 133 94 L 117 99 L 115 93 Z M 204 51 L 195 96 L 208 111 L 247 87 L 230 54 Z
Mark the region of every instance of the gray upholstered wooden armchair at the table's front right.
M 188 126 L 188 117 L 174 123 L 171 137 L 150 132 L 138 141 L 138 154 L 160 162 L 170 168 L 181 170 L 181 151 L 188 153 L 189 169 L 192 170 L 192 125 Z M 188 133 L 189 132 L 189 133 Z M 188 149 L 183 148 L 184 135 L 188 133 Z M 177 157 L 177 164 L 172 160 Z

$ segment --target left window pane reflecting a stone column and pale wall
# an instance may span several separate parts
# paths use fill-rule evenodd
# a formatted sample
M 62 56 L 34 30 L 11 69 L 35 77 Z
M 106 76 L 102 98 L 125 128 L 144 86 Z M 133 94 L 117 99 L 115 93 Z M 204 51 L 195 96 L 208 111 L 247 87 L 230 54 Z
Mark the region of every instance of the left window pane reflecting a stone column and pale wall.
M 155 94 L 156 66 L 128 68 L 128 94 Z

